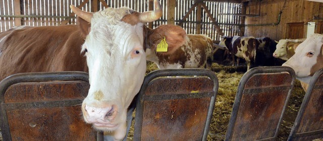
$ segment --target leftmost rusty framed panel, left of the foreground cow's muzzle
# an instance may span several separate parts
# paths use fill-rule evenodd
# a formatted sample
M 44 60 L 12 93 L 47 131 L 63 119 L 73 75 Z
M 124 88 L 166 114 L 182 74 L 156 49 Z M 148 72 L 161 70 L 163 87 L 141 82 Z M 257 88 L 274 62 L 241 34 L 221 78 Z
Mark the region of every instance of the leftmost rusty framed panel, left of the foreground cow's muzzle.
M 25 73 L 0 83 L 1 129 L 5 140 L 96 140 L 81 117 L 88 75 L 80 72 Z

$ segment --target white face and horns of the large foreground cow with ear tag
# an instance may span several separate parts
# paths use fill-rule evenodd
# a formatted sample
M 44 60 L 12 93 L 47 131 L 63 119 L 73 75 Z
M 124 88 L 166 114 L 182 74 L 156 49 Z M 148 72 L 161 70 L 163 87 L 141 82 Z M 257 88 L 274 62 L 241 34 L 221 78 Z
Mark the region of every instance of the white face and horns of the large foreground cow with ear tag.
M 84 120 L 94 128 L 110 131 L 115 140 L 126 134 L 127 108 L 139 92 L 146 71 L 143 24 L 163 13 L 157 0 L 155 11 L 137 13 L 128 8 L 107 8 L 87 13 L 71 6 L 82 19 L 86 35 L 82 46 L 89 68 L 90 89 L 82 104 Z

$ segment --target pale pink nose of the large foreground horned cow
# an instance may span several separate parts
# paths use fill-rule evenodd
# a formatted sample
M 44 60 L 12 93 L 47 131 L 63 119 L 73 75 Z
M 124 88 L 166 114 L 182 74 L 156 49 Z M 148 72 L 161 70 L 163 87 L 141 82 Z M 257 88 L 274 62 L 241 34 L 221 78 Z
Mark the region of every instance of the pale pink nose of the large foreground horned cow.
M 88 122 L 102 122 L 109 120 L 115 111 L 115 106 L 93 107 L 85 105 L 84 110 L 87 112 Z

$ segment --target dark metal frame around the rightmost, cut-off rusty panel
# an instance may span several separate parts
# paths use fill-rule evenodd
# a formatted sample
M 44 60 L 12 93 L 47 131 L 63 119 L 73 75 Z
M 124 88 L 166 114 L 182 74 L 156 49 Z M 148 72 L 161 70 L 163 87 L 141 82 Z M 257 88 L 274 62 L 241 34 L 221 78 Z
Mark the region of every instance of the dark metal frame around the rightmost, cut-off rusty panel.
M 295 119 L 294 125 L 293 125 L 292 130 L 291 130 L 291 133 L 289 134 L 287 140 L 293 140 L 293 138 L 295 136 L 306 136 L 306 135 L 313 135 L 313 134 L 316 134 L 316 133 L 322 133 L 323 134 L 323 130 L 316 130 L 316 131 L 296 134 L 296 131 L 298 130 L 300 122 L 301 122 L 301 119 L 303 117 L 304 111 L 305 111 L 305 109 L 306 109 L 306 107 L 308 105 L 308 102 L 309 102 L 310 98 L 311 98 L 312 92 L 315 89 L 315 84 L 316 84 L 317 80 L 319 79 L 319 77 L 322 76 L 322 75 L 323 75 L 323 68 L 317 70 L 317 72 L 315 72 L 315 74 L 311 78 L 311 81 L 309 82 L 306 94 L 305 94 L 304 99 L 302 101 L 302 105 L 299 108 L 297 117 Z

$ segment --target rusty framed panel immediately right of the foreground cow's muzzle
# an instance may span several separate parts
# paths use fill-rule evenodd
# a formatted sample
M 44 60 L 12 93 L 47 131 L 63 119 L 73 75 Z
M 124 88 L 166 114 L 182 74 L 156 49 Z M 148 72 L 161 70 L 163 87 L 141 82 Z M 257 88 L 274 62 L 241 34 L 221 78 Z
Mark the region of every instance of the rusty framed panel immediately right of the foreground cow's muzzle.
M 160 73 L 164 75 L 158 76 Z M 204 77 L 158 78 L 174 76 L 172 73 Z M 205 140 L 218 90 L 214 73 L 207 69 L 168 69 L 152 75 L 145 78 L 147 85 L 139 92 L 134 140 Z

